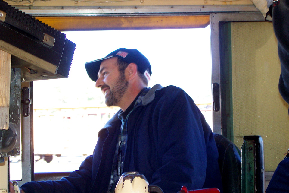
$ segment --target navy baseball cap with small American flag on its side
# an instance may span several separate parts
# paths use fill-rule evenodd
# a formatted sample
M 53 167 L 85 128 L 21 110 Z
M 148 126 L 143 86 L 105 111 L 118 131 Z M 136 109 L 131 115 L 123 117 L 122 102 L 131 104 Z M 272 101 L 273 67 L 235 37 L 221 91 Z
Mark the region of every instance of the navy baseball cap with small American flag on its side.
M 148 61 L 148 59 L 142 55 L 141 52 L 139 52 L 137 49 L 126 49 L 126 48 L 120 48 L 117 49 L 104 58 L 94 60 L 91 62 L 86 62 L 85 63 L 85 69 L 87 74 L 89 75 L 89 78 L 93 81 L 96 81 L 98 79 L 98 71 L 100 64 L 103 60 L 112 58 L 112 57 L 117 57 L 121 58 L 124 61 L 130 63 L 135 63 L 138 66 L 138 71 L 140 71 L 144 76 L 150 80 L 151 76 L 151 64 Z M 149 69 L 149 71 L 147 70 Z

